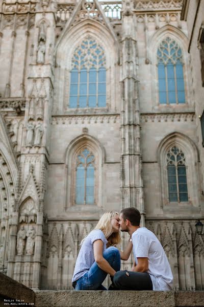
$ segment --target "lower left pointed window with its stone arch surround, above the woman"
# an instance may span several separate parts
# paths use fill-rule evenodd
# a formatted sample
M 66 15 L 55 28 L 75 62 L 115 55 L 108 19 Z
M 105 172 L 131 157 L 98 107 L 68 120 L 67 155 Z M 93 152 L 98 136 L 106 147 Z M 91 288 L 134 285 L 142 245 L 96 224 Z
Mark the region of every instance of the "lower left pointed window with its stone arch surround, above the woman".
M 65 210 L 101 207 L 104 162 L 105 149 L 96 138 L 83 134 L 70 142 L 65 152 Z

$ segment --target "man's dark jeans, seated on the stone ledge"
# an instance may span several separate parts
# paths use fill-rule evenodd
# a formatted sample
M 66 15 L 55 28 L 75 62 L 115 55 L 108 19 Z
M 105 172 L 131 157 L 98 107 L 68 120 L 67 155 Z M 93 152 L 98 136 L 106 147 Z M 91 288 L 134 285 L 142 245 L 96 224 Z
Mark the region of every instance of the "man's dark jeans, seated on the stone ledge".
M 115 290 L 153 290 L 148 273 L 118 271 L 113 277 Z

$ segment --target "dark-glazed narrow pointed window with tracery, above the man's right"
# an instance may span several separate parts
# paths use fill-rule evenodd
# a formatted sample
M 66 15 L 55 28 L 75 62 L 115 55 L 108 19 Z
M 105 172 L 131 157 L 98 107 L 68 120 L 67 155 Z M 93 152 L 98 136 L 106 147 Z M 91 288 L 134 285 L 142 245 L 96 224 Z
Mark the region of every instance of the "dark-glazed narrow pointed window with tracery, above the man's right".
M 185 155 L 179 147 L 167 153 L 169 202 L 188 202 Z

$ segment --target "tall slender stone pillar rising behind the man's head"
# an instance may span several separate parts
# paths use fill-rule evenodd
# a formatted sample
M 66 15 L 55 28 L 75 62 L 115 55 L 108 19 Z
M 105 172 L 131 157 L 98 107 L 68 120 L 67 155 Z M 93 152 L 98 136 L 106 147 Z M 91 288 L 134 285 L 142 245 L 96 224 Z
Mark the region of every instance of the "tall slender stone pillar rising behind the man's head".
M 144 225 L 137 37 L 133 2 L 123 1 L 122 11 L 122 108 L 121 191 L 122 208 L 135 207 Z

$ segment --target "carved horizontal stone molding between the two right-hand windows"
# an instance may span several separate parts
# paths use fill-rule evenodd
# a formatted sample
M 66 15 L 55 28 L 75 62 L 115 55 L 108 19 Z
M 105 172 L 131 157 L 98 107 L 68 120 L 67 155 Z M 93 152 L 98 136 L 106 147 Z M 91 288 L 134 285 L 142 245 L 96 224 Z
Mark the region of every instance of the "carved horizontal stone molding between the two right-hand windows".
M 195 113 L 154 113 L 141 114 L 142 123 L 146 122 L 194 122 Z

